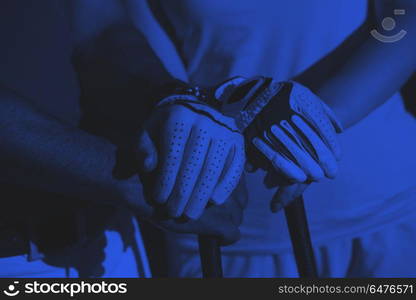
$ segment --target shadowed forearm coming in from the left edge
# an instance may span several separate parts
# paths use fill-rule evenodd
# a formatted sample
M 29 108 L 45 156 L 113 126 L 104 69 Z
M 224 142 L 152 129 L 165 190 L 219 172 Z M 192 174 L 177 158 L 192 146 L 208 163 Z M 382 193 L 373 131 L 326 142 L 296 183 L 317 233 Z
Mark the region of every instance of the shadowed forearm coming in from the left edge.
M 63 125 L 5 89 L 0 140 L 3 183 L 116 205 L 127 204 L 127 190 L 137 190 L 131 200 L 142 201 L 138 180 L 114 176 L 114 145 Z

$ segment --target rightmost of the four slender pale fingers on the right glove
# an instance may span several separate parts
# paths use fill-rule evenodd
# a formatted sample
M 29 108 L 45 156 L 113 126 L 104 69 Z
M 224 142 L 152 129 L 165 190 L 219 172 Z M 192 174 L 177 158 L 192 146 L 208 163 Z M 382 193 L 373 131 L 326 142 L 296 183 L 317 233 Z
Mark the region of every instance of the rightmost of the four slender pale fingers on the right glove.
M 292 122 L 308 139 L 308 142 L 315 151 L 317 162 L 322 167 L 325 175 L 329 178 L 334 178 L 338 171 L 337 160 L 334 154 L 328 149 L 316 132 L 299 116 L 293 116 Z

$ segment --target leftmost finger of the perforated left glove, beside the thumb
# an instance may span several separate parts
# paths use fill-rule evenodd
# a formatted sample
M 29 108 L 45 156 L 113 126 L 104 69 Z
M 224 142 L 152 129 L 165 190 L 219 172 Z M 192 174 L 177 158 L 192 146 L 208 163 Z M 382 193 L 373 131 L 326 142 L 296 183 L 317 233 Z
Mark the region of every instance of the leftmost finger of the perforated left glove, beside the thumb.
M 191 131 L 187 123 L 168 119 L 160 141 L 160 165 L 155 179 L 153 198 L 165 203 L 175 185 L 185 146 Z

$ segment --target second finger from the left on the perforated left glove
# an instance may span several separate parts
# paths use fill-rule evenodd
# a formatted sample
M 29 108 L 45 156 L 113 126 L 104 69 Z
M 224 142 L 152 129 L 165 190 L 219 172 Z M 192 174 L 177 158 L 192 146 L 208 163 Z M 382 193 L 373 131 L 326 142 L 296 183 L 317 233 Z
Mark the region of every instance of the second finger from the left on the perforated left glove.
M 175 186 L 167 201 L 167 209 L 172 217 L 183 214 L 203 168 L 209 144 L 210 138 L 205 129 L 194 127 L 191 130 Z

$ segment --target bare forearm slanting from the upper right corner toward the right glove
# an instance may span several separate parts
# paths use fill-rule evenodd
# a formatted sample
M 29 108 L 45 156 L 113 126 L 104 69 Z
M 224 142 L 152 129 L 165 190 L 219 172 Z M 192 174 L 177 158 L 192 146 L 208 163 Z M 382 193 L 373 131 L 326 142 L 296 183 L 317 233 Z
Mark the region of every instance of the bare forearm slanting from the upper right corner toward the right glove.
M 405 84 L 416 70 L 413 16 L 400 16 L 407 35 L 395 43 L 368 38 L 315 92 L 334 110 L 345 128 L 366 117 Z

